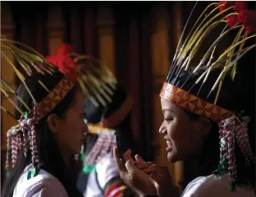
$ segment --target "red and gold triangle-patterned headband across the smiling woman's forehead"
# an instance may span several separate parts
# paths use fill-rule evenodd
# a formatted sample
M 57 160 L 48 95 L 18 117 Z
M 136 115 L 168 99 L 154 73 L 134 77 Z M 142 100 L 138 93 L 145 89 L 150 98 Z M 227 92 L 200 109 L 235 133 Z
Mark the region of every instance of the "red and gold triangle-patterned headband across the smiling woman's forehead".
M 212 103 L 208 103 L 197 96 L 173 86 L 170 83 L 163 83 L 162 90 L 159 95 L 161 98 L 171 101 L 194 114 L 205 116 L 215 122 L 227 119 L 233 114 L 231 111 L 223 109 Z

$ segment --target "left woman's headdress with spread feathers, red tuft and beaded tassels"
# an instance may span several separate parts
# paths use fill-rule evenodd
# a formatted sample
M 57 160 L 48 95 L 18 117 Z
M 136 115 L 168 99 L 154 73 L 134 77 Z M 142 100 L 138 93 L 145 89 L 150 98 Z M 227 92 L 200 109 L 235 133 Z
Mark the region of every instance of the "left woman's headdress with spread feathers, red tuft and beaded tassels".
M 109 100 L 108 94 L 112 94 L 112 90 L 108 87 L 105 88 L 105 83 L 115 84 L 116 79 L 113 78 L 112 73 L 101 64 L 95 64 L 95 60 L 89 56 L 80 56 L 72 52 L 70 45 L 62 45 L 57 50 L 55 56 L 48 56 L 44 58 L 38 51 L 27 47 L 21 43 L 1 38 L 2 58 L 6 58 L 8 65 L 14 70 L 16 76 L 24 84 L 26 90 L 29 92 L 32 100 L 34 101 L 34 107 L 30 109 L 28 105 L 22 101 L 21 97 L 16 94 L 16 91 L 7 80 L 1 78 L 1 92 L 7 96 L 7 99 L 11 104 L 21 113 L 21 119 L 18 119 L 18 125 L 11 128 L 7 132 L 7 172 L 9 172 L 9 157 L 11 156 L 12 167 L 16 163 L 16 154 L 18 151 L 26 147 L 27 142 L 30 142 L 30 151 L 32 154 L 33 168 L 28 174 L 28 179 L 34 177 L 39 173 L 39 153 L 36 146 L 36 129 L 35 125 L 39 123 L 39 120 L 48 115 L 55 106 L 71 91 L 75 83 L 79 83 L 81 90 L 85 93 L 94 105 L 98 105 L 98 101 L 102 105 L 106 105 Z M 7 52 L 13 54 L 15 60 L 20 65 L 21 69 L 18 69 L 7 56 Z M 38 83 L 48 92 L 48 95 L 38 102 L 34 99 L 30 88 L 25 83 L 25 75 L 32 76 L 34 74 L 55 74 L 62 72 L 64 77 L 61 79 L 57 86 L 53 90 L 49 91 L 41 81 Z M 114 89 L 114 86 L 113 86 Z M 26 111 L 22 111 L 11 96 L 21 101 L 25 106 Z M 4 106 L 1 106 L 2 110 L 8 112 Z M 12 117 L 14 117 L 11 114 Z M 27 150 L 25 150 L 25 156 Z

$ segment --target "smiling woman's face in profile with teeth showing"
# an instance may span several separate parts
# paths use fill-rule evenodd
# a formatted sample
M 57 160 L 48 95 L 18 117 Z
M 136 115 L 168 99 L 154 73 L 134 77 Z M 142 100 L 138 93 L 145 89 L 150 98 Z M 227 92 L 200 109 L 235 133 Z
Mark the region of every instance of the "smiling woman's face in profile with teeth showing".
M 164 120 L 159 132 L 167 141 L 168 160 L 175 163 L 199 154 L 210 129 L 209 121 L 205 118 L 191 119 L 181 107 L 162 98 L 161 105 Z

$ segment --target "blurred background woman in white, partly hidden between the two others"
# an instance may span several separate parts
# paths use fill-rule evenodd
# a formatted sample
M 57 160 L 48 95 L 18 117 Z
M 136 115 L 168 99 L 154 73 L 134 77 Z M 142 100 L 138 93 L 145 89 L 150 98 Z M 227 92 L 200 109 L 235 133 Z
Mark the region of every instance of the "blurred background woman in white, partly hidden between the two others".
M 110 84 L 107 87 L 112 89 Z M 133 149 L 130 113 L 133 101 L 118 84 L 112 91 L 111 102 L 96 107 L 85 99 L 85 119 L 89 133 L 84 143 L 83 170 L 77 186 L 85 197 L 128 197 L 134 192 L 119 177 L 112 149 L 116 144 L 114 131 L 126 146 Z

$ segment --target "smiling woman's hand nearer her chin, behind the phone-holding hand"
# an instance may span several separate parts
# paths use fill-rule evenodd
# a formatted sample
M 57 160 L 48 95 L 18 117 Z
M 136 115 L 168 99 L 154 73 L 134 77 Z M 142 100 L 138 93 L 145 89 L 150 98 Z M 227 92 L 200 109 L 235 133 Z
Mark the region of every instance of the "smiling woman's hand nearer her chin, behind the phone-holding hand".
M 179 196 L 178 190 L 172 186 L 171 175 L 167 167 L 159 166 L 153 162 L 145 162 L 144 159 L 135 155 L 135 166 L 143 172 L 149 174 L 153 181 L 153 185 L 158 190 L 158 195 L 161 197 L 176 197 Z

